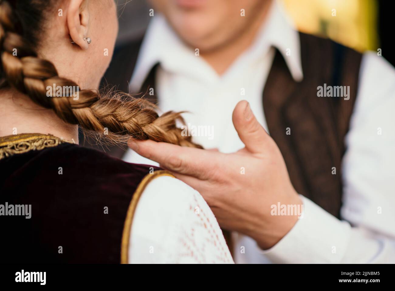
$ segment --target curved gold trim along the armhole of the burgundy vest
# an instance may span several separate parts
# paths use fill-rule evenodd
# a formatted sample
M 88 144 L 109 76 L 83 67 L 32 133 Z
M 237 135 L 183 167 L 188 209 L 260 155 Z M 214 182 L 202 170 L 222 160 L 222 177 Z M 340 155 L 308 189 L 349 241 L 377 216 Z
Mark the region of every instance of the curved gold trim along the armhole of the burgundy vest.
M 133 194 L 132 201 L 129 204 L 128 212 L 126 213 L 124 229 L 122 232 L 121 264 L 129 263 L 130 232 L 132 231 L 133 217 L 137 208 L 137 203 L 139 202 L 139 199 L 143 194 L 145 187 L 147 187 L 150 181 L 162 176 L 169 176 L 175 178 L 174 175 L 171 174 L 171 172 L 169 171 L 165 171 L 165 170 L 154 171 L 153 174 L 147 174 L 143 178 L 143 180 L 141 180 L 141 182 L 137 186 L 136 191 Z

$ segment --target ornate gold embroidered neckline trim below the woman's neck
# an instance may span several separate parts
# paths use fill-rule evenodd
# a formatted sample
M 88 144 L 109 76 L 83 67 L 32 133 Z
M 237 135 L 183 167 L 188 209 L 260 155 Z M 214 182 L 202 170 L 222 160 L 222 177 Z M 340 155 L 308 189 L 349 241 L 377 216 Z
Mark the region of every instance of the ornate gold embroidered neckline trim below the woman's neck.
M 0 160 L 28 151 L 40 151 L 46 147 L 56 147 L 73 142 L 53 136 L 52 134 L 25 133 L 0 137 Z

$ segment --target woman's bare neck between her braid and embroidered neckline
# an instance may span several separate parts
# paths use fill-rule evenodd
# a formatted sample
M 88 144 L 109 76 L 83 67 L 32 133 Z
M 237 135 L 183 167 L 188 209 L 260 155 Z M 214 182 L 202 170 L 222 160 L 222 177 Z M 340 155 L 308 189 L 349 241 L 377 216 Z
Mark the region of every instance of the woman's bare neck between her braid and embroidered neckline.
M 0 136 L 42 133 L 78 143 L 77 125 L 65 123 L 53 110 L 37 105 L 28 96 L 2 89 L 0 100 Z

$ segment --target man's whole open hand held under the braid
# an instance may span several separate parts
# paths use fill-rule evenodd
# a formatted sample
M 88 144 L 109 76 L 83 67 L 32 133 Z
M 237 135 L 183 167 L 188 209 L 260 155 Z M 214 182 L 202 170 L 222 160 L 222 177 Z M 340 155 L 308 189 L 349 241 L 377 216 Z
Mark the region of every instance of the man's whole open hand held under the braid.
M 130 140 L 129 146 L 198 190 L 222 228 L 246 234 L 267 249 L 297 221 L 296 215 L 271 215 L 271 206 L 301 204 L 301 199 L 280 150 L 248 102 L 235 107 L 233 125 L 245 148 L 231 154 L 152 140 Z

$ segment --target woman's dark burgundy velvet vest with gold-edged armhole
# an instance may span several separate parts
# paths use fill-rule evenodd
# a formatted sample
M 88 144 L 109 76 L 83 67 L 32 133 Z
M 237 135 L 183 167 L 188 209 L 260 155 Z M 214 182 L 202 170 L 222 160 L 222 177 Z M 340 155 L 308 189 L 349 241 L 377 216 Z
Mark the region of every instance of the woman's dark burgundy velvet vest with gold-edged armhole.
M 126 263 L 131 201 L 164 172 L 150 170 L 74 144 L 1 159 L 0 204 L 31 205 L 0 216 L 2 263 Z

